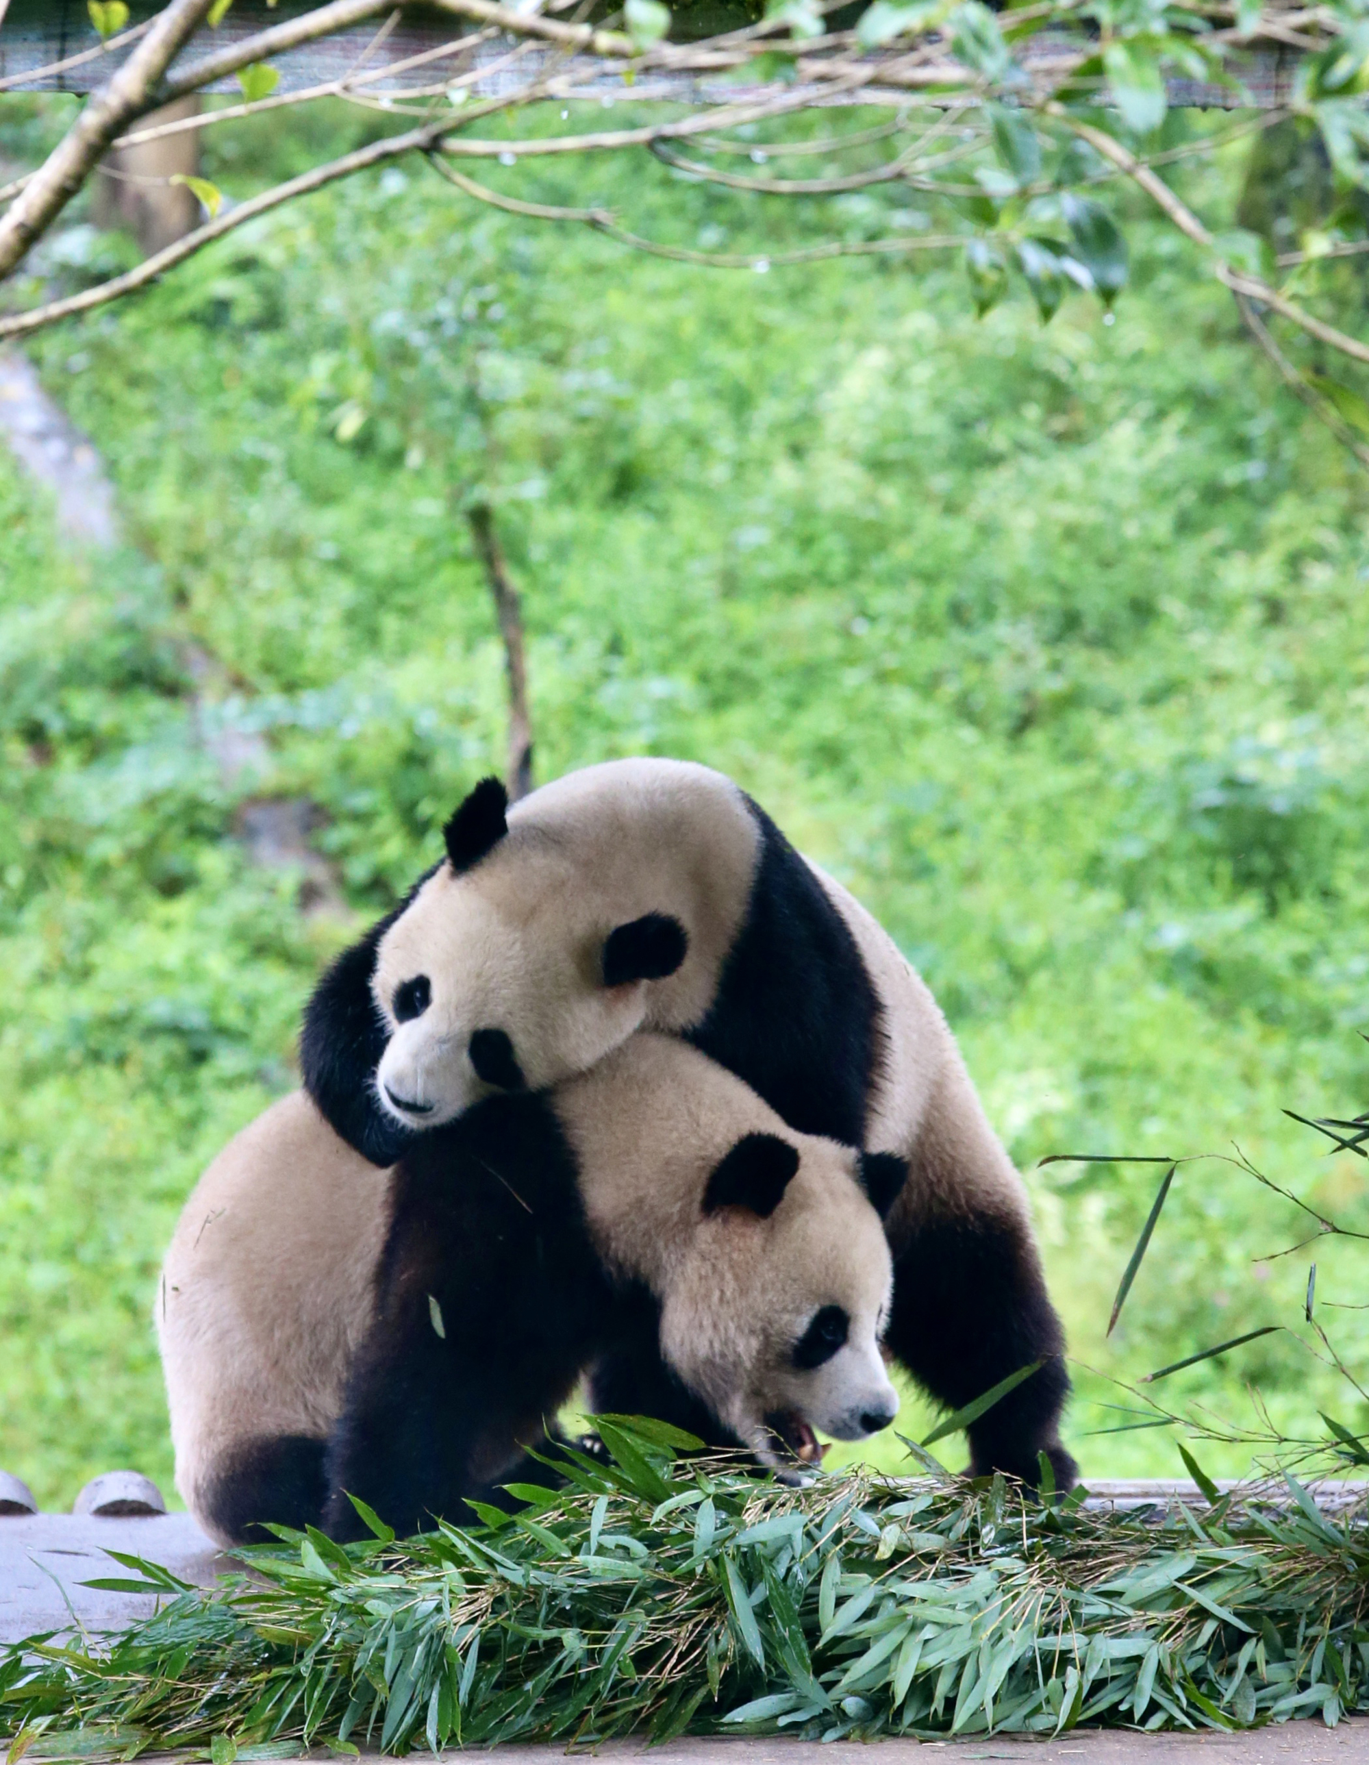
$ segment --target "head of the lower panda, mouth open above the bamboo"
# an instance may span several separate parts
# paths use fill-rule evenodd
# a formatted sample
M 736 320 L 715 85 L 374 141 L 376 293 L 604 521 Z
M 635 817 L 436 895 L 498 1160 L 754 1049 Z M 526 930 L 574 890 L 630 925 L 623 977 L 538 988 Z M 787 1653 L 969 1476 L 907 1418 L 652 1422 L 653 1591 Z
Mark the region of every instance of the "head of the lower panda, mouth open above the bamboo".
M 898 1414 L 882 1213 L 905 1177 L 893 1154 L 748 1133 L 707 1179 L 663 1296 L 662 1354 L 782 1476 L 820 1460 L 819 1433 L 861 1440 Z

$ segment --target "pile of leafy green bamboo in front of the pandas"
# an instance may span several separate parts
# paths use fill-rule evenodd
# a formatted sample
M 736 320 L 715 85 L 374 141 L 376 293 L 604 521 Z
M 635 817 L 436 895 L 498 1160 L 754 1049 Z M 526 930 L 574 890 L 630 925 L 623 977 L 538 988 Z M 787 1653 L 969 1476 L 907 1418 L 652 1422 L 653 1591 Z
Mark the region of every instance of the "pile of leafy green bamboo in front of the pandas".
M 866 1470 L 785 1488 L 603 1423 L 513 1514 L 399 1543 L 281 1530 L 210 1594 L 0 1656 L 11 1758 L 282 1758 L 501 1740 L 1242 1728 L 1369 1707 L 1369 1534 L 1291 1477 L 1099 1513 L 1083 1491 Z M 1208 1486 L 1208 1493 L 1216 1490 Z

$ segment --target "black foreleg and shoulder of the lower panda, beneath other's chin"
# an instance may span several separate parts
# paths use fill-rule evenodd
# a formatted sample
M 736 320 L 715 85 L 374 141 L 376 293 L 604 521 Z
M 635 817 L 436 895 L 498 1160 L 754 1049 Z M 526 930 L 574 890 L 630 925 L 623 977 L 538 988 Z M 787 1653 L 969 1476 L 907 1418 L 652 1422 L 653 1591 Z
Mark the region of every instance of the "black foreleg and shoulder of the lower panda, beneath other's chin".
M 543 1100 L 490 1098 L 420 1135 L 392 1181 L 376 1320 L 328 1447 L 326 1527 L 349 1495 L 397 1532 L 469 1520 L 466 1500 L 542 1481 L 545 1440 L 605 1340 L 607 1278 L 575 1165 Z

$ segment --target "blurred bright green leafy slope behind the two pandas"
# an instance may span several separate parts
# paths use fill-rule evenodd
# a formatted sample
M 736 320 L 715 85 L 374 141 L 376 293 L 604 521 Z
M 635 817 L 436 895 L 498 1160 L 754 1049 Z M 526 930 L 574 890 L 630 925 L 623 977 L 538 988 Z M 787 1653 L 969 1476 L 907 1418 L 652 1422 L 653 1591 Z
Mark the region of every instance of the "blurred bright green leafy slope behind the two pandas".
M 242 194 L 349 127 L 249 129 L 206 171 Z M 519 191 L 706 249 L 919 224 L 887 194 L 762 215 L 655 164 Z M 125 544 L 64 551 L 0 459 L 0 1463 L 48 1504 L 116 1463 L 169 1488 L 176 1211 L 293 1082 L 321 962 L 503 757 L 471 494 L 526 597 L 540 777 L 739 778 L 926 974 L 1023 1167 L 1235 1138 L 1369 1221 L 1364 1167 L 1281 1115 L 1365 1103 L 1365 487 L 1186 249 L 1131 237 L 1115 325 L 1073 298 L 1043 330 L 976 321 L 958 265 L 684 268 L 392 169 L 37 339 Z M 78 224 L 46 268 L 111 249 Z M 189 644 L 224 671 L 201 710 Z M 210 727 L 265 734 L 265 775 L 226 784 Z M 326 810 L 346 918 L 247 861 L 263 794 Z M 1163 1431 L 1087 1438 L 1124 1421 L 1103 1375 L 1295 1322 L 1307 1278 L 1254 1260 L 1290 1209 L 1189 1167 L 1104 1345 L 1154 1181 L 1030 1175 L 1096 1476 L 1182 1474 Z M 1323 1299 L 1360 1287 L 1325 1246 Z M 1325 1315 L 1353 1356 L 1362 1313 Z M 1249 1414 L 1246 1377 L 1284 1424 L 1369 1426 L 1288 1336 L 1164 1389 Z

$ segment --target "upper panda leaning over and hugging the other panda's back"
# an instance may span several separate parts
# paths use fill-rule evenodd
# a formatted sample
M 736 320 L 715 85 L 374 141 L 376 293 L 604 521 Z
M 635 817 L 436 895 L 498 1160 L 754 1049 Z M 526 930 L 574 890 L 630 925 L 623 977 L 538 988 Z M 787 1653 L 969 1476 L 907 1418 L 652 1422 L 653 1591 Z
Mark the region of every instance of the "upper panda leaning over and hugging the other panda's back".
M 1064 1334 L 1021 1179 L 937 1003 L 864 907 L 732 780 L 684 761 L 587 766 L 512 810 L 483 780 L 445 842 L 305 1011 L 303 1078 L 333 1128 L 385 1165 L 482 1098 L 589 1070 L 640 1029 L 679 1036 L 790 1128 L 907 1160 L 887 1343 L 953 1408 L 1041 1363 L 969 1428 L 970 1470 L 1036 1483 L 1044 1453 L 1067 1488 Z M 677 1419 L 640 1343 L 605 1357 L 591 1394 Z

